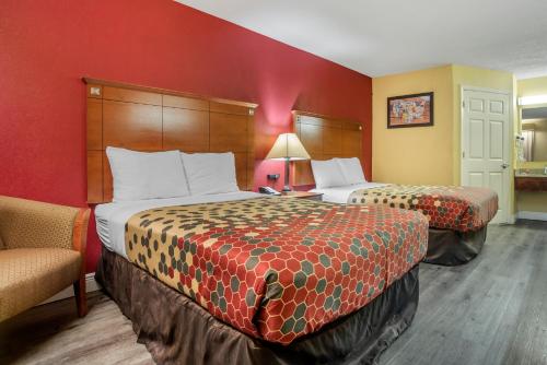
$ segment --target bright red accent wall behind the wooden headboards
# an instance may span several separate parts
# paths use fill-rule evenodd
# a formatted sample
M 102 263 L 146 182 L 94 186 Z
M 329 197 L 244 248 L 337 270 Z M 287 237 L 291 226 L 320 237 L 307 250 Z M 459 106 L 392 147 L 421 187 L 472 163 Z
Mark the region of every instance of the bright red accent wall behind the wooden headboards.
M 171 0 L 2 0 L 0 14 L 1 195 L 85 205 L 84 75 L 258 103 L 259 160 L 293 108 L 358 119 L 371 178 L 366 75 Z M 283 172 L 256 167 L 256 186 Z M 91 272 L 94 222 L 88 248 Z

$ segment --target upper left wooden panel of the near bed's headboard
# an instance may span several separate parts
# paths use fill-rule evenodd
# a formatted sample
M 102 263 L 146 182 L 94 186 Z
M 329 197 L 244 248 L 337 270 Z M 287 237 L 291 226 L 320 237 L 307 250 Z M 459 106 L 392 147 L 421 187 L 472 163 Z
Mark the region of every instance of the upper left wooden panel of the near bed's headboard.
M 103 142 L 104 148 L 162 150 L 162 107 L 104 101 Z

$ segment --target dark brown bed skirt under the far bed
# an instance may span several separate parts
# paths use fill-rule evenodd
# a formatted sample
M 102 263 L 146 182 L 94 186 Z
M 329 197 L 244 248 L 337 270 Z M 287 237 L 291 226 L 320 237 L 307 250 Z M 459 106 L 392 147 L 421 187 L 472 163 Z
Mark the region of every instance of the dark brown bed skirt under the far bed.
M 473 260 L 482 249 L 487 226 L 476 232 L 429 228 L 428 254 L 423 262 L 453 267 Z

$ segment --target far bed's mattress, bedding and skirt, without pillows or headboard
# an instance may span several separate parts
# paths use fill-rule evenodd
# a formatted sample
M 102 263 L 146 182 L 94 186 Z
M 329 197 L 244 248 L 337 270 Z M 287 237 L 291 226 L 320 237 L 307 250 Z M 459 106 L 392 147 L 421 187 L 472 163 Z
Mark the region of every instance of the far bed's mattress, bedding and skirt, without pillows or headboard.
M 498 196 L 475 187 L 400 186 L 362 182 L 313 189 L 329 202 L 385 205 L 416 210 L 429 221 L 424 261 L 455 266 L 470 261 L 481 250 L 487 225 L 498 211 Z

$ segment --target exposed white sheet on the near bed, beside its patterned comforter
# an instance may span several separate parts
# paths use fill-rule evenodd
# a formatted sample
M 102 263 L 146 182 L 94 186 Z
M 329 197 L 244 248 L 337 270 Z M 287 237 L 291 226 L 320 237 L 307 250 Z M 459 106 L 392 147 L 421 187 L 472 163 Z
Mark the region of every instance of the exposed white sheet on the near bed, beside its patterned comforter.
M 126 222 L 139 212 L 152 208 L 212 203 L 220 201 L 244 200 L 265 197 L 251 191 L 191 196 L 183 198 L 150 199 L 100 204 L 95 208 L 97 234 L 103 245 L 121 257 L 127 258 L 125 243 Z

